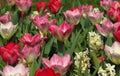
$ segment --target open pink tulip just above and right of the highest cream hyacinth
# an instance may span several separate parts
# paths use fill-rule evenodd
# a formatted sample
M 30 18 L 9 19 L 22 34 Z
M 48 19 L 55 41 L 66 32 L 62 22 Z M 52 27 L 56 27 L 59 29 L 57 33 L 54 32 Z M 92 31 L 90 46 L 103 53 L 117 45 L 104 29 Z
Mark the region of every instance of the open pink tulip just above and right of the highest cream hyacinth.
M 101 26 L 96 24 L 96 28 L 97 28 L 98 32 L 105 37 L 107 37 L 108 35 L 110 35 L 110 36 L 112 35 L 112 33 L 114 31 L 113 26 L 114 26 L 113 23 L 108 19 L 103 21 Z

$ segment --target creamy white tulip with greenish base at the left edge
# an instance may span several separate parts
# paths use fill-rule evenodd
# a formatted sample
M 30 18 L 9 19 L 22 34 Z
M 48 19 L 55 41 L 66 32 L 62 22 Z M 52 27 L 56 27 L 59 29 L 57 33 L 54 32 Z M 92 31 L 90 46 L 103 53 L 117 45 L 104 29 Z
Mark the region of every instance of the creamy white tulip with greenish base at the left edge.
M 0 22 L 0 34 L 4 39 L 10 39 L 17 31 L 17 24 L 13 25 L 12 22 L 1 23 Z

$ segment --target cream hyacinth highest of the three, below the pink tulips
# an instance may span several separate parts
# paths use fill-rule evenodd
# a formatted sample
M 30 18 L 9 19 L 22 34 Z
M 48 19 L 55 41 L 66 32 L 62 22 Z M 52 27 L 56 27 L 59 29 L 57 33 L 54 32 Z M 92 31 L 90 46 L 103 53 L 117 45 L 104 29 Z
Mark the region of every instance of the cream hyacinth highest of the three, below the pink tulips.
M 89 47 L 93 50 L 103 49 L 101 36 L 95 32 L 89 32 Z

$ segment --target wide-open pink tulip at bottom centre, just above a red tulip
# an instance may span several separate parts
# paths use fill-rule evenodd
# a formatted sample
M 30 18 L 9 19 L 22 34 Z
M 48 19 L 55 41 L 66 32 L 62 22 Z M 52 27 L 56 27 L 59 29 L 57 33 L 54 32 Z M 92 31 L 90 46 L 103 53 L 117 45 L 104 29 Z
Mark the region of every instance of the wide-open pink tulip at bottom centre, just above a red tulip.
M 72 62 L 70 61 L 70 55 L 66 54 L 64 57 L 59 57 L 54 54 L 50 60 L 43 58 L 43 66 L 53 68 L 56 72 L 61 73 L 62 75 L 67 72 Z

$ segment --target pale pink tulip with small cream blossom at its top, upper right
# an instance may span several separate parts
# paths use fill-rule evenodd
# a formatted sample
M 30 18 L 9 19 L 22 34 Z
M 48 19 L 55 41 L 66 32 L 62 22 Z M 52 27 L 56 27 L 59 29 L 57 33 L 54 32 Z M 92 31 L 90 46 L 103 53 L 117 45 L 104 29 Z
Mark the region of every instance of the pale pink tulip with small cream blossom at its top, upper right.
M 92 24 L 97 24 L 97 23 L 100 23 L 101 20 L 103 19 L 103 13 L 100 12 L 99 10 L 96 11 L 96 9 L 94 9 L 93 11 L 91 12 L 88 12 L 87 13 L 87 16 L 88 18 L 90 19 L 90 21 L 92 22 Z

